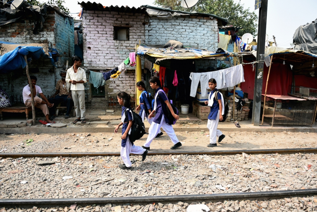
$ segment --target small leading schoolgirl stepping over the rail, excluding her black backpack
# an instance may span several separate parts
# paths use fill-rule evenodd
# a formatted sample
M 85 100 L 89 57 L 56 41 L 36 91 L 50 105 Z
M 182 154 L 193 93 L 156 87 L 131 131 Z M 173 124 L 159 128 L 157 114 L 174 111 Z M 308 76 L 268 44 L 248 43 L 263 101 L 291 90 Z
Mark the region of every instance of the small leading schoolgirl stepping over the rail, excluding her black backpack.
M 130 154 L 142 154 L 142 161 L 145 160 L 148 150 L 140 146 L 135 146 L 133 142 L 129 140 L 131 133 L 131 127 L 133 122 L 133 114 L 131 110 L 130 95 L 126 92 L 120 92 L 117 96 L 118 102 L 122 105 L 121 123 L 114 130 L 118 132 L 119 127 L 122 125 L 122 136 L 121 136 L 121 151 L 120 156 L 124 163 L 120 164 L 121 169 L 131 169 Z M 127 111 L 127 117 L 126 117 Z

